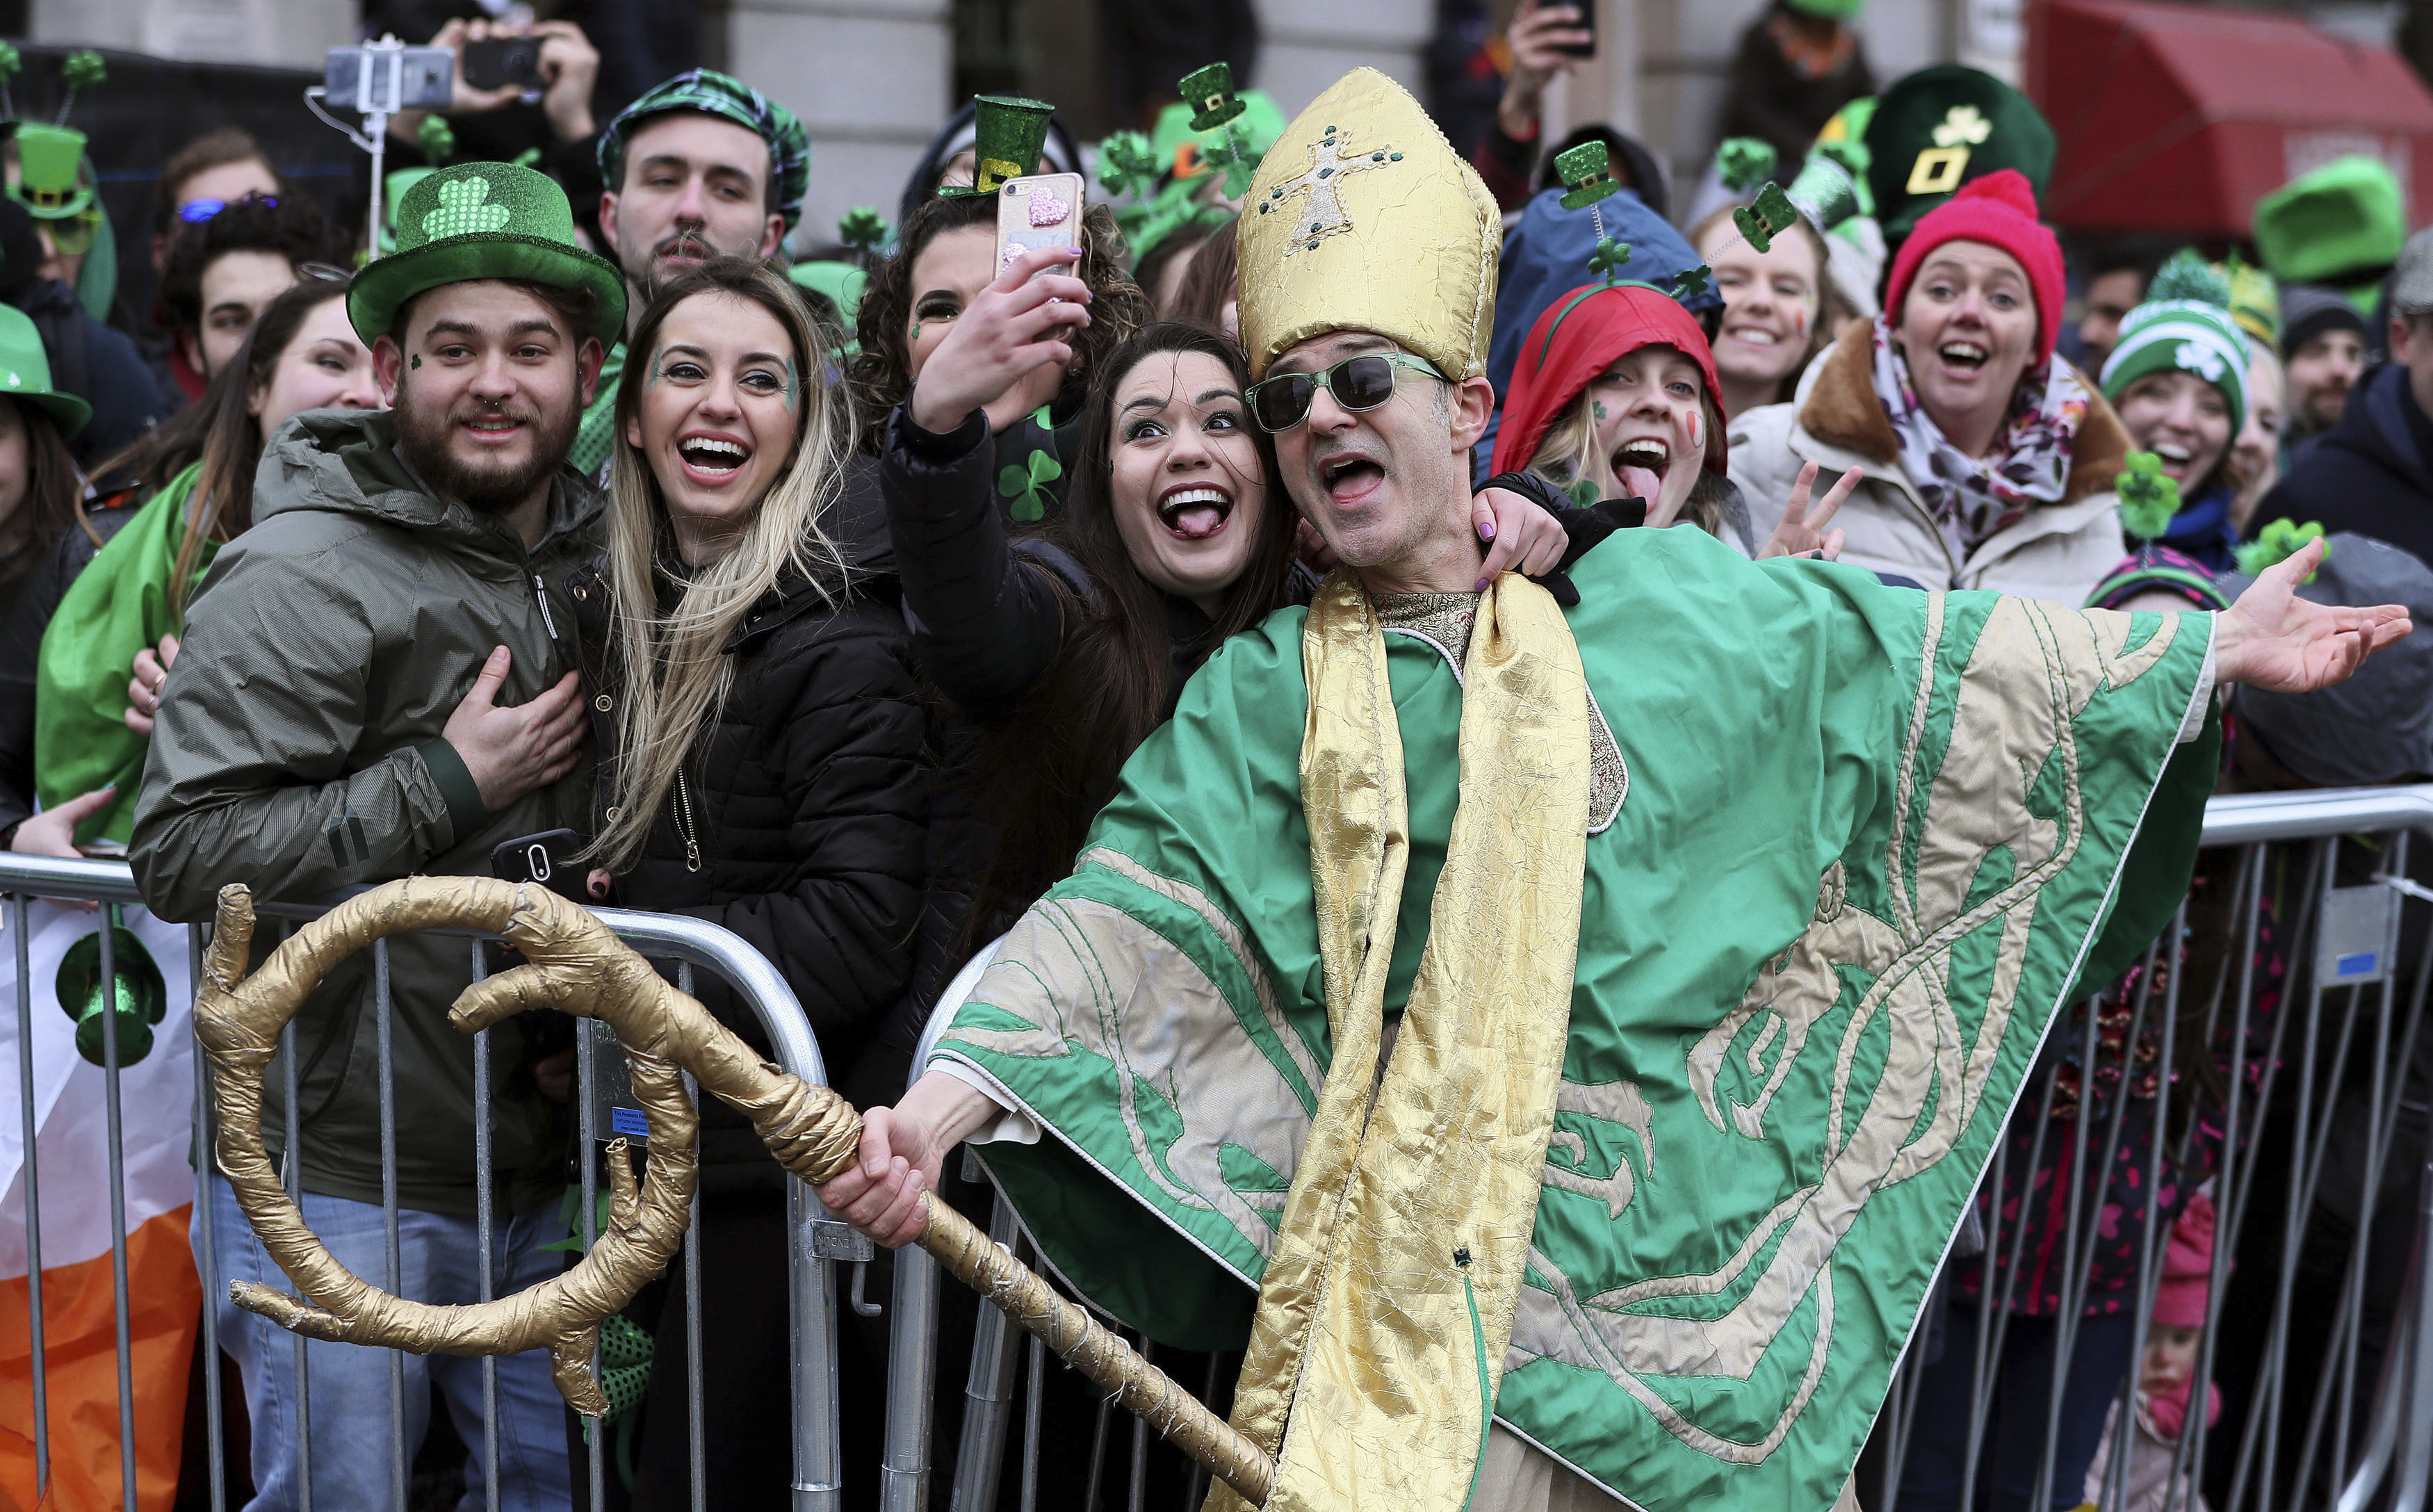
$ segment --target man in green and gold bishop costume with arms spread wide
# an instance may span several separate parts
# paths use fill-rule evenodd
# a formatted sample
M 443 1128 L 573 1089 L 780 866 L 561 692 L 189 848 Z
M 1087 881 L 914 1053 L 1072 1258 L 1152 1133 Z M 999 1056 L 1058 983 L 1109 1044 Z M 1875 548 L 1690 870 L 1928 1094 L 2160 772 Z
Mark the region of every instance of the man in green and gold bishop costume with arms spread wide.
M 1380 73 L 1268 153 L 1253 377 L 1397 358 L 1275 436 L 1343 567 L 1209 657 L 822 1198 L 905 1242 L 988 1139 L 1083 1298 L 1248 1342 L 1280 1512 L 1822 1512 L 2056 1006 L 2185 889 L 2214 687 L 2406 618 L 2292 599 L 2311 553 L 2105 614 L 1696 528 L 1474 592 L 1496 243 Z

